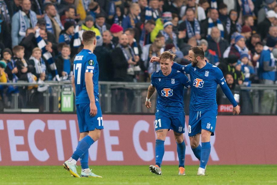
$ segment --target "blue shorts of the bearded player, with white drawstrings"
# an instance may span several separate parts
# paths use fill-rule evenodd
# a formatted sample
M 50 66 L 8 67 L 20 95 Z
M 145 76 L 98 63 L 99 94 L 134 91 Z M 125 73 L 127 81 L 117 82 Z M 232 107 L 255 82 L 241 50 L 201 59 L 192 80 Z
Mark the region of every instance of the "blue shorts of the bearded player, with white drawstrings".
M 189 136 L 195 136 L 198 133 L 201 133 L 201 130 L 209 130 L 214 135 L 216 128 L 216 110 L 208 111 L 190 111 L 189 118 Z

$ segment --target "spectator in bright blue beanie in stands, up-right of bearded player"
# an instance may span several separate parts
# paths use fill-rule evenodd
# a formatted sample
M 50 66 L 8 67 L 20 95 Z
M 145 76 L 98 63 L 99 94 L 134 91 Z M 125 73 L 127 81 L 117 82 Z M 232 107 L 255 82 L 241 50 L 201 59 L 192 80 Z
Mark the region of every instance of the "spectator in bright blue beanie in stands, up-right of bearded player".
M 245 46 L 245 38 L 242 35 L 235 37 L 235 44 L 230 45 L 223 53 L 223 58 L 230 55 L 236 55 L 240 58 L 241 53 L 248 53 L 248 48 Z

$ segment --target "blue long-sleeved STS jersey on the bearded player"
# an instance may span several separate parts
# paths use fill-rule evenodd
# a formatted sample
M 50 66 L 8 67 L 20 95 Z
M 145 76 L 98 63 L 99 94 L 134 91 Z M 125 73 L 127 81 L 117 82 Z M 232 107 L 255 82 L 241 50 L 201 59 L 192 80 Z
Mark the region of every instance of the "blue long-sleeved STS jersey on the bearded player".
M 174 63 L 173 68 L 190 74 L 190 110 L 204 111 L 216 110 L 216 88 L 217 84 L 226 85 L 222 71 L 215 65 L 206 61 L 206 65 L 199 69 L 191 64 L 180 65 Z

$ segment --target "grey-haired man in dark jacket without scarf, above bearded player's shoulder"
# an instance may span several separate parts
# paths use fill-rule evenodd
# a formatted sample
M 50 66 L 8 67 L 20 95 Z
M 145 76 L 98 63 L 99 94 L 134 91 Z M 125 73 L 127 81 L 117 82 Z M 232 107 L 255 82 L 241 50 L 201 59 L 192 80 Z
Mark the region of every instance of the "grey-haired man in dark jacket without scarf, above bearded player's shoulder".
M 224 51 L 228 48 L 229 43 L 226 39 L 220 36 L 218 27 L 213 27 L 211 30 L 211 38 L 208 39 L 209 49 L 216 52 L 218 58 L 223 57 Z

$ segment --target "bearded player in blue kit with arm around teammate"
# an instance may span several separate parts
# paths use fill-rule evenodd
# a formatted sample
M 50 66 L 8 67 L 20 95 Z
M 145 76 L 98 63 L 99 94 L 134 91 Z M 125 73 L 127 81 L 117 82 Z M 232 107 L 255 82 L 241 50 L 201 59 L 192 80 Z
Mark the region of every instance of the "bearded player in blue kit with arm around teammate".
M 211 152 L 210 137 L 214 135 L 216 128 L 217 104 L 216 88 L 220 85 L 224 94 L 233 105 L 233 114 L 238 115 L 240 110 L 232 92 L 226 84 L 222 71 L 204 60 L 203 48 L 195 46 L 189 50 L 189 61 L 191 64 L 180 65 L 174 63 L 172 68 L 190 74 L 191 96 L 189 137 L 190 146 L 195 157 L 200 160 L 197 175 L 205 175 L 206 164 Z M 160 59 L 152 57 L 150 62 Z M 201 135 L 201 146 L 199 145 Z

